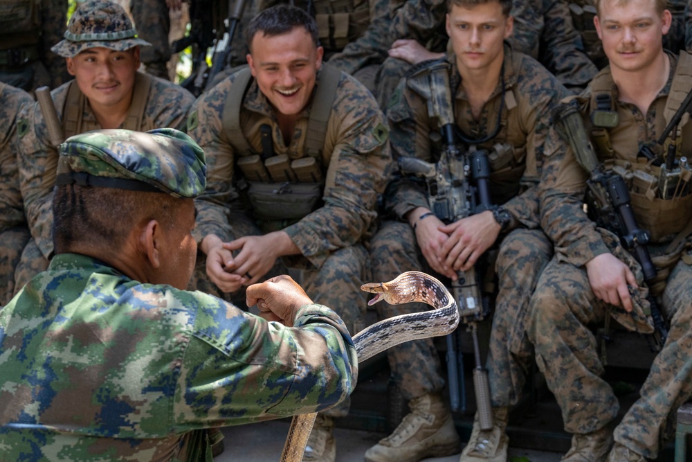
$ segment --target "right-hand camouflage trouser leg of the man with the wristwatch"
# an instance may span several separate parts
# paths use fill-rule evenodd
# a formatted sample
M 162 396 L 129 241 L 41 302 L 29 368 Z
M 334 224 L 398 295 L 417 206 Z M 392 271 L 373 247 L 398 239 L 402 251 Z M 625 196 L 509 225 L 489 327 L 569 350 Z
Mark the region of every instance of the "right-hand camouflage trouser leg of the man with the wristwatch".
M 534 229 L 511 231 L 500 244 L 495 262 L 499 291 L 486 362 L 493 407 L 513 406 L 521 398 L 533 361 L 525 318 L 552 251 L 552 242 L 543 231 Z

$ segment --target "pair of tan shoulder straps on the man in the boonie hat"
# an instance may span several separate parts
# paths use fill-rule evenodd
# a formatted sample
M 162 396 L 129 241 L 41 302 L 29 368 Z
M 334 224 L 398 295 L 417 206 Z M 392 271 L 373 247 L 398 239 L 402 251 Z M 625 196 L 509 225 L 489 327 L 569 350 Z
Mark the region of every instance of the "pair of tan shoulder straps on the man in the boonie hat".
M 152 130 L 155 127 L 142 127 L 144 119 L 144 111 L 147 107 L 147 99 L 149 98 L 149 90 L 152 87 L 152 78 L 145 73 L 138 72 L 132 89 L 132 101 L 127 116 L 122 123 L 122 128 L 126 130 L 143 131 Z M 62 128 L 65 139 L 76 134 L 84 132 L 82 127 L 84 117 L 84 107 L 86 106 L 86 96 L 80 90 L 77 81 L 70 82 L 67 89 L 67 97 L 63 109 Z

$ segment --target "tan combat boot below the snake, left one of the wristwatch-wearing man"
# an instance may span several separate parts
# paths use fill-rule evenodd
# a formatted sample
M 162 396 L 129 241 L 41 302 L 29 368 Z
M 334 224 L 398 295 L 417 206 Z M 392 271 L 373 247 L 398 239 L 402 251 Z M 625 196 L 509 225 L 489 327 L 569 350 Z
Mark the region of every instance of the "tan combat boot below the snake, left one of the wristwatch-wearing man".
M 461 441 L 441 393 L 414 398 L 397 429 L 365 452 L 365 462 L 418 462 L 457 454 Z

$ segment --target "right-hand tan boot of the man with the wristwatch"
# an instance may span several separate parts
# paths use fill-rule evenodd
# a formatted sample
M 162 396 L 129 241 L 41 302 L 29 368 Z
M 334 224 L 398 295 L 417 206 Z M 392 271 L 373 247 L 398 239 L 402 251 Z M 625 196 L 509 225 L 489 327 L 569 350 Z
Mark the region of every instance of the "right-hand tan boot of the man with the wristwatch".
M 505 429 L 508 421 L 509 407 L 493 407 L 493 428 L 483 430 L 476 412 L 471 438 L 468 438 L 459 462 L 506 462 L 509 438 Z

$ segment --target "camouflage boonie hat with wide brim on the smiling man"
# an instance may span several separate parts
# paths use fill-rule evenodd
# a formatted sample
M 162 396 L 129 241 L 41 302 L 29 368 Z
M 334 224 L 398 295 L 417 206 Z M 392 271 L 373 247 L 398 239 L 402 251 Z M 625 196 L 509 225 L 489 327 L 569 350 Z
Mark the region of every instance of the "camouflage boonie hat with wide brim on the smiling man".
M 84 50 L 102 46 L 126 51 L 133 46 L 150 46 L 137 38 L 137 30 L 127 12 L 109 0 L 89 0 L 79 3 L 67 24 L 65 39 L 51 48 L 62 57 L 75 57 Z

